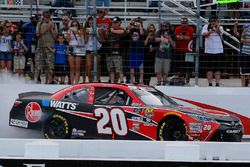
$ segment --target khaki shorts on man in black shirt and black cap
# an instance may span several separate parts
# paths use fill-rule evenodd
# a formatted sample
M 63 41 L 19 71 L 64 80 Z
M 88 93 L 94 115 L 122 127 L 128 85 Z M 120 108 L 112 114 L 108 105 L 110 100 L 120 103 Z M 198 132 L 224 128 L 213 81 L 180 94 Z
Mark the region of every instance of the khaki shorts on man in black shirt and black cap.
M 122 72 L 122 56 L 107 56 L 106 62 L 108 72 Z

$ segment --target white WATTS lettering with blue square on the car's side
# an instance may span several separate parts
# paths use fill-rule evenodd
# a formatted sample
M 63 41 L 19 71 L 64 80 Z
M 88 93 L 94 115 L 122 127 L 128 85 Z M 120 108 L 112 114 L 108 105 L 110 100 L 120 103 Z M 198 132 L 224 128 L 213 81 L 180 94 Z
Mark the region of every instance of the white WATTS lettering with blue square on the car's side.
M 42 100 L 42 106 L 67 109 L 67 110 L 75 110 L 77 103 L 71 103 L 71 102 L 66 102 L 66 101 L 55 101 L 55 100 Z

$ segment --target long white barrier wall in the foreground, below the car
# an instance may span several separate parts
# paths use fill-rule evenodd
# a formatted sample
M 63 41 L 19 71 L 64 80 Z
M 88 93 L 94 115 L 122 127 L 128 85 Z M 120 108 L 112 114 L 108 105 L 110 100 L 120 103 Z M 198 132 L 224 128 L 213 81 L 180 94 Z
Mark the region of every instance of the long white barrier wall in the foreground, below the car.
M 0 139 L 0 159 L 250 162 L 250 143 Z

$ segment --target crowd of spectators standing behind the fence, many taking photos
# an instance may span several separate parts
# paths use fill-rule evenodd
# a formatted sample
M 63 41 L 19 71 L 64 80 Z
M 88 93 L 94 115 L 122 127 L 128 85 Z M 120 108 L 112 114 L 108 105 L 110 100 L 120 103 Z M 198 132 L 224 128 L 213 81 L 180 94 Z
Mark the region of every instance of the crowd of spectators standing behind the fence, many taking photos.
M 100 3 L 110 5 L 110 1 Z M 157 29 L 154 24 L 144 27 L 140 17 L 131 19 L 125 27 L 121 18 L 109 18 L 107 14 L 106 9 L 97 9 L 96 27 L 94 17 L 89 16 L 82 23 L 68 13 L 60 23 L 55 23 L 50 11 L 43 12 L 42 17 L 32 15 L 30 22 L 20 22 L 16 26 L 9 20 L 3 21 L 1 71 L 7 70 L 20 77 L 28 75 L 36 83 L 41 82 L 40 76 L 44 73 L 46 84 L 102 82 L 100 76 L 107 71 L 111 83 L 149 84 L 150 78 L 155 76 L 156 85 L 175 84 L 169 77 L 172 72 L 174 78 L 185 78 L 183 85 L 189 84 L 194 63 L 185 62 L 185 58 L 186 53 L 193 52 L 196 34 L 195 27 L 188 25 L 187 17 L 181 17 L 178 26 L 163 21 Z M 225 67 L 221 64 L 225 58 L 222 32 L 216 16 L 202 28 L 208 86 L 213 86 L 213 76 L 215 86 L 220 86 Z M 242 53 L 249 55 L 248 31 L 237 35 L 243 43 Z M 95 56 L 97 71 L 94 74 Z M 241 65 L 243 70 L 250 67 Z

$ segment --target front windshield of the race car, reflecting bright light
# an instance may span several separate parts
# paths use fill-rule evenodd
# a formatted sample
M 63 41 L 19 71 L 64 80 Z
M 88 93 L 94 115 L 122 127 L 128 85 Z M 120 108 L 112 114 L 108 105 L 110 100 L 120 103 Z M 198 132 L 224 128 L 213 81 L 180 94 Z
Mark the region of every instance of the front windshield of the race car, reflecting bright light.
M 146 105 L 178 105 L 170 97 L 152 87 L 130 87 L 130 90 Z

